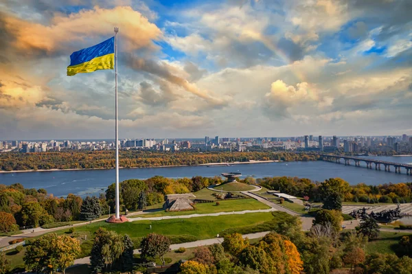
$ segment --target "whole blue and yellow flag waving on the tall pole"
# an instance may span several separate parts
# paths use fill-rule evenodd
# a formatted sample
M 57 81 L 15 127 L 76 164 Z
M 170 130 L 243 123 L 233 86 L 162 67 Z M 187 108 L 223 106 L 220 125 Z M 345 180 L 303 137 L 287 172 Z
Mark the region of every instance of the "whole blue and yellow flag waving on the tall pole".
M 98 69 L 113 69 L 115 65 L 115 37 L 106 41 L 80 49 L 70 56 L 70 65 L 67 67 L 67 76 L 76 73 L 88 73 Z

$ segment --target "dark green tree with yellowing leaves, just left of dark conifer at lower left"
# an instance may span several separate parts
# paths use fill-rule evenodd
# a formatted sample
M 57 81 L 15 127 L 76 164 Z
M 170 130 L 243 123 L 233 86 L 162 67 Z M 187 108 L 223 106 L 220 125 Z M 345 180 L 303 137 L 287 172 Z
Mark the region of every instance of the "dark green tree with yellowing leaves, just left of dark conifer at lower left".
M 100 227 L 95 232 L 91 248 L 90 264 L 94 272 L 99 273 L 112 266 L 124 252 L 124 238 L 115 231 L 107 231 Z

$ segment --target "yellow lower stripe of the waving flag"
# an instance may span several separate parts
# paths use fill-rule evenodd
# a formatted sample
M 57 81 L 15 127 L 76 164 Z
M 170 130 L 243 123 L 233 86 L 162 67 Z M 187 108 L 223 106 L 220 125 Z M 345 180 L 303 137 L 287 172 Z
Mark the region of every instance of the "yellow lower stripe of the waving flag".
M 115 65 L 115 54 L 106 54 L 96 57 L 87 62 L 67 67 L 67 76 L 73 76 L 76 73 L 88 73 L 98 69 L 113 69 Z

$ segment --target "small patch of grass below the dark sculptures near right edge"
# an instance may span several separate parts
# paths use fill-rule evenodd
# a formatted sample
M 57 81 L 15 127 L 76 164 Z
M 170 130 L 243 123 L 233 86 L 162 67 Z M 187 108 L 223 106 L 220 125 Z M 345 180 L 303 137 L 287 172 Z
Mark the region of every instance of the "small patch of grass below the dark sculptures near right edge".
M 411 235 L 410 233 L 380 231 L 376 240 L 367 242 L 365 251 L 370 253 L 391 253 L 395 254 L 396 246 L 402 236 Z

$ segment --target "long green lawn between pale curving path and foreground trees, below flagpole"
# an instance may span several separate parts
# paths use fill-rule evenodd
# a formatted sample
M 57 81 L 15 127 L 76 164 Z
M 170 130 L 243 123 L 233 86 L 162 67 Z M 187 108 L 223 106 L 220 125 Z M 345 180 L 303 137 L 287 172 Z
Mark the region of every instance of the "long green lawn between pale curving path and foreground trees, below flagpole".
M 168 235 L 192 235 L 197 240 L 216 237 L 224 229 L 233 227 L 246 227 L 258 225 L 268 220 L 272 220 L 270 212 L 241 214 L 231 216 L 207 216 L 186 219 L 170 220 L 139 220 L 135 222 L 124 222 L 122 224 L 109 224 L 108 222 L 93 222 L 89 225 L 76 227 L 76 232 L 80 236 L 87 235 L 90 239 L 99 227 L 116 231 L 117 233 L 128 234 L 131 238 L 140 238 L 148 233 L 158 233 Z M 149 226 L 152 225 L 152 229 Z M 58 231 L 62 235 L 67 231 Z

